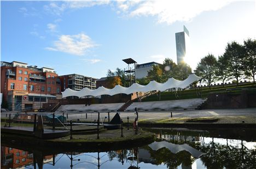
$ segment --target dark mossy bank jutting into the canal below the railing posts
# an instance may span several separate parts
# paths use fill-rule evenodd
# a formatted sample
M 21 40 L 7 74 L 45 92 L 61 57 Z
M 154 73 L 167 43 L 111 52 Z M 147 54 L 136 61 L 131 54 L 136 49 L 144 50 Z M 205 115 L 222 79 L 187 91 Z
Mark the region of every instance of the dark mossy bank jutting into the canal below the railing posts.
M 98 150 L 117 150 L 122 147 L 143 146 L 154 141 L 155 135 L 152 132 L 139 130 L 135 134 L 133 130 L 123 130 L 123 137 L 121 137 L 121 130 L 106 130 L 100 133 L 99 139 L 97 134 L 88 135 L 73 135 L 70 136 L 43 140 L 37 137 L 14 135 L 8 133 L 1 133 L 1 142 L 9 143 L 19 146 L 26 145 L 28 147 L 38 146 L 44 149 L 58 149 L 65 151 L 90 151 L 97 152 Z

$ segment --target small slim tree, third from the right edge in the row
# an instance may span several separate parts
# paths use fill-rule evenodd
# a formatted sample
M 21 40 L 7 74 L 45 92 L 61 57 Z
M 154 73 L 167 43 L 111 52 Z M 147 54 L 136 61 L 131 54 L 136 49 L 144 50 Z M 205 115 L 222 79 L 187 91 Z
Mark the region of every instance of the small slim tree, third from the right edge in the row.
M 228 58 L 224 56 L 219 56 L 217 61 L 217 68 L 215 72 L 217 80 L 222 81 L 223 87 L 225 80 L 229 80 L 229 70 L 228 70 Z

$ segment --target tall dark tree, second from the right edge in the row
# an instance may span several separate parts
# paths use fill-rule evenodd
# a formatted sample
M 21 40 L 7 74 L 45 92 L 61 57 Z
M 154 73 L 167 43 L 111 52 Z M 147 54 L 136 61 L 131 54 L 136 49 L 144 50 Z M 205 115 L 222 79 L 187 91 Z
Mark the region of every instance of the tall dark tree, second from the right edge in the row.
M 242 45 L 233 41 L 228 43 L 225 49 L 224 57 L 228 59 L 229 75 L 235 77 L 236 85 L 238 85 L 239 78 L 243 75 L 243 57 L 245 50 Z

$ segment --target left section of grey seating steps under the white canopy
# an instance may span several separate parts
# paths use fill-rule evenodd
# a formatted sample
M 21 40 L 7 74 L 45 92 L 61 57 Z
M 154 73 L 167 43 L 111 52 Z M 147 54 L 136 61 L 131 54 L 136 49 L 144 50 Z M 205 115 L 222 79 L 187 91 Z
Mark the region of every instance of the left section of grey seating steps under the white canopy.
M 92 111 L 117 111 L 125 103 L 61 105 L 56 112 L 92 112 Z

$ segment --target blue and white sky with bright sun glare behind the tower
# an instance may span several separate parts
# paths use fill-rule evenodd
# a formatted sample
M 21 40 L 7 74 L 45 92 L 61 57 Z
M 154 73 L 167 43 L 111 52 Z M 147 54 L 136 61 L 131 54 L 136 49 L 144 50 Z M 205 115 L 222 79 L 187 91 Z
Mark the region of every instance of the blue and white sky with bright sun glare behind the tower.
M 1 61 L 100 79 L 107 70 L 177 62 L 175 33 L 189 30 L 194 70 L 231 41 L 256 39 L 255 1 L 1 1 Z

